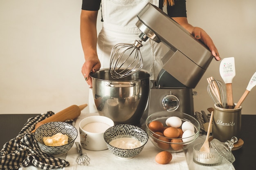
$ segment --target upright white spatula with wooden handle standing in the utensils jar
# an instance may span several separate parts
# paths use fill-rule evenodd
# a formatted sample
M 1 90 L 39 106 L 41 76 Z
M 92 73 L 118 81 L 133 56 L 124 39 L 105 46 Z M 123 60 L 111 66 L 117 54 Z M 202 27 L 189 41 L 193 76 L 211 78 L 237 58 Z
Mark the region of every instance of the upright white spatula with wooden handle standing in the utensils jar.
M 234 76 L 236 76 L 234 57 L 223 58 L 221 60 L 220 76 L 226 84 L 228 109 L 233 109 L 234 103 L 233 103 L 232 81 Z

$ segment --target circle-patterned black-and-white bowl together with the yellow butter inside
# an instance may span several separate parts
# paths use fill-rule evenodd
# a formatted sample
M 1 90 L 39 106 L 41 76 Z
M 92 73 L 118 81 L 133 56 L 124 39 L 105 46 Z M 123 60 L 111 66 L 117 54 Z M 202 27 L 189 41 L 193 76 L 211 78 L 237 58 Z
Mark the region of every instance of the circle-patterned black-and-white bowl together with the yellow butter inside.
M 41 151 L 52 154 L 66 154 L 74 145 L 78 131 L 66 122 L 49 122 L 40 125 L 35 138 Z

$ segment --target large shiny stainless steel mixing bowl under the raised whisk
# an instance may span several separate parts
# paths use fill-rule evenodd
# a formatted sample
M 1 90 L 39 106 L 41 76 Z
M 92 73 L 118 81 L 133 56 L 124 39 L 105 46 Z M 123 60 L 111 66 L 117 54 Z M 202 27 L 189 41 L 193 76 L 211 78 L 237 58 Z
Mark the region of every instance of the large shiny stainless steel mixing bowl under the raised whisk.
M 90 74 L 97 110 L 115 124 L 139 123 L 146 108 L 150 74 L 144 70 L 125 78 L 114 79 L 109 69 Z

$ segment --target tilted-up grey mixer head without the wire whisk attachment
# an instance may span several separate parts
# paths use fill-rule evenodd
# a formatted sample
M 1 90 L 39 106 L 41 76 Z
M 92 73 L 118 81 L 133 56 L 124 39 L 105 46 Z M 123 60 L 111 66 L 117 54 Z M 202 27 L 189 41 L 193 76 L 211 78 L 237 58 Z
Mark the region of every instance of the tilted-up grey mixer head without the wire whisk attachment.
M 137 17 L 139 20 L 136 26 L 141 32 L 170 48 L 162 58 L 163 69 L 186 87 L 195 88 L 213 59 L 211 51 L 161 9 L 150 3 L 141 9 Z

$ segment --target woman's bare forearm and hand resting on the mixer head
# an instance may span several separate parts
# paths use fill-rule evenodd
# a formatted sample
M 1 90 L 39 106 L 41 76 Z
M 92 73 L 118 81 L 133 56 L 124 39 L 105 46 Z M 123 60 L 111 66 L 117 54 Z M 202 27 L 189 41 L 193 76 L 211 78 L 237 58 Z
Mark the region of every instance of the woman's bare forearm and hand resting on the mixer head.
M 217 61 L 221 60 L 213 40 L 202 28 L 190 25 L 186 17 L 173 17 L 173 20 L 189 31 L 196 39 L 201 40 L 210 49 L 212 55 Z

